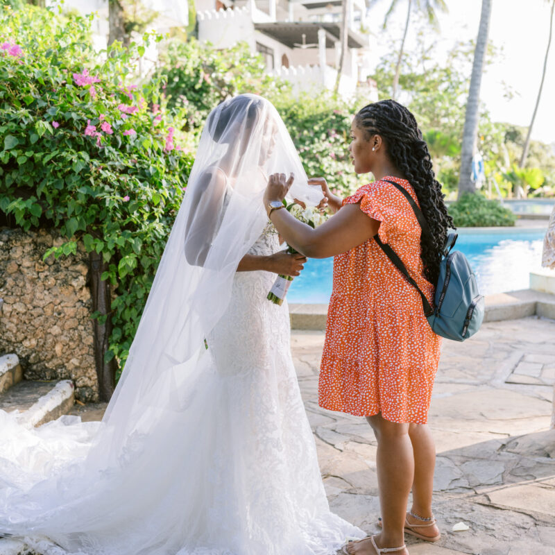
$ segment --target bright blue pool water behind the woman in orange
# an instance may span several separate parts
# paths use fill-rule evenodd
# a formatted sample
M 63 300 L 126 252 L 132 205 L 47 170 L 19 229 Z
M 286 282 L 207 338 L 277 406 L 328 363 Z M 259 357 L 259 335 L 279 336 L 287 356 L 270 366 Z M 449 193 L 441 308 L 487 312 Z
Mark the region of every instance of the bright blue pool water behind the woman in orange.
M 540 266 L 543 229 L 461 230 L 461 250 L 476 273 L 484 295 L 527 289 L 529 273 Z M 328 302 L 332 293 L 333 259 L 309 259 L 291 283 L 289 302 Z

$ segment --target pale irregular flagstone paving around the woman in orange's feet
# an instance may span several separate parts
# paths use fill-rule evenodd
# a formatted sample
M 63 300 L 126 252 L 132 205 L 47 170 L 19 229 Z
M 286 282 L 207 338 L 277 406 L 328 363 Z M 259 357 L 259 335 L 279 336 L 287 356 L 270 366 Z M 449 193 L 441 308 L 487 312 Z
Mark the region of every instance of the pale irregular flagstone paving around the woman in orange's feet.
M 332 509 L 379 530 L 376 442 L 363 418 L 318 407 L 323 332 L 293 330 L 300 387 Z M 532 316 L 444 341 L 429 425 L 436 440 L 434 512 L 443 538 L 411 555 L 554 555 L 555 321 Z M 454 532 L 464 522 L 468 531 Z

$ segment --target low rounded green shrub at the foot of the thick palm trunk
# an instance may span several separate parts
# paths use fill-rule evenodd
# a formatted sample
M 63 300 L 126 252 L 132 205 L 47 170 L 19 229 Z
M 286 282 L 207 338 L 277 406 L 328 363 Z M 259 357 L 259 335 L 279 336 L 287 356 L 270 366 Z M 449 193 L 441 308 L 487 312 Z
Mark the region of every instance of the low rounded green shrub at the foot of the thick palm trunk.
M 488 200 L 480 193 L 465 193 L 449 206 L 457 228 L 515 225 L 516 216 L 498 200 Z

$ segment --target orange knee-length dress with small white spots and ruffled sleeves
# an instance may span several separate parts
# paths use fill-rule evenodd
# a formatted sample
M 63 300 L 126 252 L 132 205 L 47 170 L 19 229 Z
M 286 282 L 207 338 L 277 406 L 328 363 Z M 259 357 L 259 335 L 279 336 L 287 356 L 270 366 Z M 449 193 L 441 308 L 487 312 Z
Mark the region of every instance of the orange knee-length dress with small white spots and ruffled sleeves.
M 407 180 L 387 177 L 418 199 Z M 432 301 L 423 275 L 420 225 L 403 194 L 379 180 L 343 205 L 359 203 L 380 222 L 378 235 L 402 259 Z M 424 316 L 418 291 L 404 280 L 374 239 L 334 258 L 319 404 L 356 416 L 382 413 L 390 422 L 425 424 L 441 338 Z

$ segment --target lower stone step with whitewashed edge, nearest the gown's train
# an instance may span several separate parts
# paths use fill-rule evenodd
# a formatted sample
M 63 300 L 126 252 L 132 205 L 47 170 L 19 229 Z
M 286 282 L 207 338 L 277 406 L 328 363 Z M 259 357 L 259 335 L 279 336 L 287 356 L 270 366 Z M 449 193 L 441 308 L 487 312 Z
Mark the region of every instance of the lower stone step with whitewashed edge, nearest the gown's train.
M 60 382 L 23 380 L 0 396 L 0 409 L 19 411 L 19 423 L 31 428 L 67 414 L 74 402 L 74 384 L 69 379 Z

